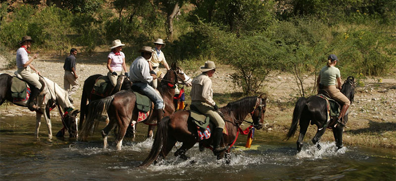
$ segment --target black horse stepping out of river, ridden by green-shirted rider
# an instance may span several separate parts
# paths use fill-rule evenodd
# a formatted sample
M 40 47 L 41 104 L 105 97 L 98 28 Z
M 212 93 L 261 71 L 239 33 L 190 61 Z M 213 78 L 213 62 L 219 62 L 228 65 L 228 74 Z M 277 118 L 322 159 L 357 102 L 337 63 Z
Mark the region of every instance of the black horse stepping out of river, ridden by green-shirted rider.
M 353 102 L 355 91 L 354 78 L 349 76 L 344 82 L 341 92 L 347 96 L 350 102 Z M 348 113 L 344 115 L 345 123 L 348 121 Z M 287 133 L 286 139 L 294 136 L 297 130 L 297 123 L 299 121 L 300 134 L 297 139 L 297 152 L 301 151 L 303 145 L 302 140 L 304 139 L 305 133 L 309 126 L 317 126 L 315 136 L 312 138 L 313 144 L 320 149 L 319 144 L 320 137 L 325 133 L 326 128 L 323 128 L 327 124 L 327 103 L 326 100 L 318 96 L 310 96 L 308 98 L 300 97 L 296 102 L 296 106 L 293 111 L 293 120 L 290 126 L 289 132 Z M 333 129 L 334 139 L 336 140 L 336 146 L 338 149 L 343 147 L 343 132 L 344 125 L 337 124 L 336 128 Z

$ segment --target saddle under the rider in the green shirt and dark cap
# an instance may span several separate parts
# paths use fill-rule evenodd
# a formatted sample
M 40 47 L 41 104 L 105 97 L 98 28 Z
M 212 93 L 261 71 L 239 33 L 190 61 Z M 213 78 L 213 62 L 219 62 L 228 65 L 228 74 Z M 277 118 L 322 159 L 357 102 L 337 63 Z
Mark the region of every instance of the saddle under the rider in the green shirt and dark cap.
M 337 118 L 338 116 L 340 116 L 340 112 L 341 112 L 340 103 L 337 102 L 336 100 L 330 98 L 330 95 L 326 90 L 319 90 L 318 94 L 316 96 L 326 100 L 326 107 L 327 107 L 327 123 L 326 123 L 326 125 L 329 127 L 333 126 L 335 123 L 334 118 Z M 333 120 L 333 122 L 330 122 L 331 120 Z

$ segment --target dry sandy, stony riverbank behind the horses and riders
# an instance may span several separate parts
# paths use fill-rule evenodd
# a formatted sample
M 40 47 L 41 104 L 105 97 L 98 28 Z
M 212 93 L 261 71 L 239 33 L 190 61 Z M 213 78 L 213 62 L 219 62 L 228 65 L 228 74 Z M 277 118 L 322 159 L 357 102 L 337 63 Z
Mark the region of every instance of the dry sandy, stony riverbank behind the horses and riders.
M 79 109 L 80 98 L 84 80 L 94 74 L 105 75 L 107 69 L 105 49 L 98 50 L 92 55 L 79 54 L 77 56 L 77 74 L 79 76 L 80 88 L 72 95 L 74 106 Z M 40 58 L 34 60 L 34 66 L 45 77 L 50 78 L 63 87 L 63 62 L 67 55 L 41 54 Z M 14 69 L 3 69 L 6 58 L 0 58 L 1 73 L 13 75 Z M 131 61 L 131 60 L 129 60 Z M 127 60 L 128 62 L 128 60 Z M 129 67 L 130 62 L 127 63 Z M 214 100 L 221 106 L 227 102 L 238 100 L 244 95 L 241 90 L 236 89 L 232 84 L 230 74 L 233 70 L 225 65 L 216 71 L 212 78 Z M 183 68 L 183 67 L 182 67 Z M 128 68 L 129 69 L 129 68 Z M 191 77 L 195 77 L 200 72 L 186 71 Z M 347 75 L 344 75 L 347 76 Z M 314 83 L 313 77 L 307 77 L 304 81 L 305 87 L 311 87 Z M 287 73 L 273 73 L 266 82 L 264 90 L 268 93 L 267 111 L 265 113 L 265 126 L 260 132 L 273 133 L 274 135 L 286 135 L 297 100 L 297 84 L 294 76 Z M 191 89 L 186 88 L 189 92 Z M 189 96 L 186 96 L 186 103 L 189 104 Z M 344 132 L 345 145 L 359 145 L 366 147 L 396 148 L 396 80 L 394 77 L 376 77 L 364 80 L 364 86 L 357 87 L 353 102 L 349 108 L 349 121 Z M 28 109 L 21 109 L 12 104 L 0 106 L 0 119 L 4 117 L 18 116 L 21 114 L 35 115 Z M 51 112 L 57 117 L 56 112 Z M 9 125 L 0 123 L 0 128 L 4 129 Z M 304 141 L 308 142 L 316 133 L 316 126 L 310 126 Z M 298 133 L 291 138 L 297 140 Z M 322 136 L 322 141 L 334 141 L 331 131 L 327 131 Z

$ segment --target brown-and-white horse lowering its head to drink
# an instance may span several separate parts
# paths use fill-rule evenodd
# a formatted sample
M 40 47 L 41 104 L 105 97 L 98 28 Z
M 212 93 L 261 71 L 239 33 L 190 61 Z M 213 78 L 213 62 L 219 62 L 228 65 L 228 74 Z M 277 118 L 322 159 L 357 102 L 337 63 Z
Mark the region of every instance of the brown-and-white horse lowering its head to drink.
M 70 100 L 67 96 L 67 92 L 60 88 L 56 83 L 52 82 L 51 80 L 43 77 L 45 82 L 45 89 L 47 89 L 47 93 L 45 95 L 39 94 L 37 96 L 37 105 L 40 107 L 40 111 L 36 111 L 36 131 L 35 135 L 36 138 L 39 138 L 39 128 L 41 125 L 41 116 L 44 115 L 44 119 L 46 120 L 47 127 L 48 127 L 48 138 L 52 138 L 52 131 L 51 131 L 51 120 L 49 111 L 52 110 L 55 106 L 59 106 L 65 112 L 62 113 L 61 110 L 59 111 L 62 124 L 64 128 L 59 131 L 56 136 L 64 136 L 64 130 L 67 129 L 69 132 L 69 137 L 76 137 L 78 136 L 77 132 L 77 114 L 78 110 L 73 109 L 73 105 L 70 103 Z M 9 102 L 13 102 L 13 97 L 11 96 L 11 82 L 12 76 L 1 73 L 0 74 L 0 105 L 4 103 L 5 100 Z M 28 83 L 31 87 L 31 85 Z M 13 103 L 18 106 L 27 107 L 27 100 L 20 101 Z M 66 112 L 67 111 L 67 112 Z

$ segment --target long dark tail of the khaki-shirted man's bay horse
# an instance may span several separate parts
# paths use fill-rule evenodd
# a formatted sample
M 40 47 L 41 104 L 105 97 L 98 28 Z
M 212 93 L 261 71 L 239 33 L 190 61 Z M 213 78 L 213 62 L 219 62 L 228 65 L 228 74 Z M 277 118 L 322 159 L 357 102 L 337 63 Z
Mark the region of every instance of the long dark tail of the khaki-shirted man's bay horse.
M 147 167 L 152 162 L 154 162 L 158 155 L 162 153 L 165 157 L 164 149 L 166 147 L 166 140 L 168 139 L 168 123 L 169 123 L 169 116 L 162 118 L 161 122 L 158 123 L 157 133 L 155 134 L 154 142 L 151 146 L 151 151 L 148 153 L 148 157 L 139 167 Z

